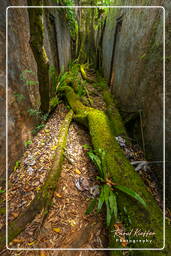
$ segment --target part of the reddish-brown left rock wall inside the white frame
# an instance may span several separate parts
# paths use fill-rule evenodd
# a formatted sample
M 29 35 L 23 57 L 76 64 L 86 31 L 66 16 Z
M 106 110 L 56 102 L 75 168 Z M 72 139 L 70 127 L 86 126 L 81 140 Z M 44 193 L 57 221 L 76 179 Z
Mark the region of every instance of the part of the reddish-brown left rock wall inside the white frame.
M 22 2 L 27 5 L 27 1 Z M 11 1 L 19 5 L 19 1 Z M 34 121 L 28 111 L 39 107 L 37 65 L 29 45 L 27 9 L 8 9 L 8 163 L 11 172 L 31 139 Z M 29 85 L 29 81 L 35 84 Z

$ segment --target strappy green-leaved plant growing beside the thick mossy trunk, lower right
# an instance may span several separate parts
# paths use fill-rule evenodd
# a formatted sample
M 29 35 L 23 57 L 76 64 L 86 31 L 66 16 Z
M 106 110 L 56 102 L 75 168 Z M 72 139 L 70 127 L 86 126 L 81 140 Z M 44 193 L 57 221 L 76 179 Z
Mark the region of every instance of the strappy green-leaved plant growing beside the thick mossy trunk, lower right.
M 115 218 L 116 221 L 118 219 L 117 191 L 124 192 L 125 194 L 129 195 L 133 199 L 136 199 L 145 208 L 147 207 L 145 201 L 139 194 L 137 194 L 135 191 L 125 186 L 114 184 L 109 179 L 109 177 L 107 177 L 107 168 L 105 164 L 106 153 L 104 152 L 104 150 L 101 150 L 101 149 L 99 149 L 98 151 L 90 150 L 87 152 L 87 154 L 89 158 L 92 160 L 92 162 L 96 165 L 100 174 L 100 177 L 97 177 L 97 179 L 102 182 L 102 185 L 101 185 L 101 192 L 98 198 L 97 212 L 99 212 L 102 209 L 105 203 L 107 226 L 110 226 L 113 218 Z M 86 211 L 86 214 L 91 213 L 91 211 L 94 210 L 95 206 L 96 204 L 91 202 L 91 204 L 89 205 Z M 131 221 L 129 220 L 129 222 Z

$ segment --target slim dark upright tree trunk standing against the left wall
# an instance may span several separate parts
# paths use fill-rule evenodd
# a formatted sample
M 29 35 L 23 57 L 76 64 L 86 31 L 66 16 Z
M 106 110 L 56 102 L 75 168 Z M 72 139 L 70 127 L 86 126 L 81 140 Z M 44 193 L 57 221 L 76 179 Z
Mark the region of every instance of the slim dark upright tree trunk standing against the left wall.
M 29 6 L 41 6 L 42 0 L 28 0 Z M 43 113 L 49 111 L 49 60 L 43 45 L 43 9 L 28 8 L 30 24 L 30 46 L 32 48 L 38 71 L 40 109 Z

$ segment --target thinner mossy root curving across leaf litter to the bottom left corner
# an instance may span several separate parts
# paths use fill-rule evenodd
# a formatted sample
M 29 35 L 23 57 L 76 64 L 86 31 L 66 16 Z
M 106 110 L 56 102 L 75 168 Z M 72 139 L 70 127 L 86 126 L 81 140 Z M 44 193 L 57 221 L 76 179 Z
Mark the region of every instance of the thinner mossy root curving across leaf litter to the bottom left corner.
M 62 123 L 59 131 L 59 139 L 57 144 L 57 149 L 54 155 L 52 168 L 46 178 L 44 185 L 41 190 L 37 192 L 35 198 L 31 204 L 19 215 L 14 221 L 8 225 L 8 243 L 12 241 L 17 235 L 19 235 L 30 223 L 34 217 L 39 214 L 42 210 L 47 214 L 54 191 L 56 189 L 57 181 L 60 177 L 64 148 L 66 147 L 67 134 L 69 125 L 73 117 L 73 111 L 70 110 Z M 0 249 L 5 246 L 5 227 L 0 231 Z

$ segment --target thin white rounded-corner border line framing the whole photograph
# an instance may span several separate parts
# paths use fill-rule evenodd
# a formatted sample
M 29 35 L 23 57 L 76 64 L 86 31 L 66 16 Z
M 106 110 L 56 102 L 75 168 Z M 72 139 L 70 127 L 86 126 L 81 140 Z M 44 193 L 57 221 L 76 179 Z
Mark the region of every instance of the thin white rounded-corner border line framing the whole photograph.
M 8 10 L 17 8 L 133 8 L 163 10 L 163 247 L 162 248 L 12 248 L 8 247 Z M 8 6 L 6 8 L 6 248 L 14 251 L 161 251 L 165 248 L 165 8 L 163 6 Z

